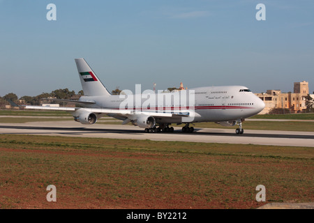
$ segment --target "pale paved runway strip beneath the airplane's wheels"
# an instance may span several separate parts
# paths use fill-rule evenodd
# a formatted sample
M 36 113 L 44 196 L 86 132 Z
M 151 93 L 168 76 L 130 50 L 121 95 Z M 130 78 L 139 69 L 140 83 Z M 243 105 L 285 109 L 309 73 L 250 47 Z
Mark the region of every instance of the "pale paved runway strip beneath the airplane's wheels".
M 193 133 L 182 133 L 181 128 L 174 127 L 172 133 L 145 133 L 132 125 L 82 125 L 74 121 L 0 123 L 0 134 L 314 147 L 314 132 L 245 130 L 235 134 L 234 129 L 195 128 Z

